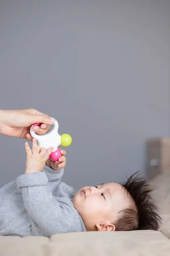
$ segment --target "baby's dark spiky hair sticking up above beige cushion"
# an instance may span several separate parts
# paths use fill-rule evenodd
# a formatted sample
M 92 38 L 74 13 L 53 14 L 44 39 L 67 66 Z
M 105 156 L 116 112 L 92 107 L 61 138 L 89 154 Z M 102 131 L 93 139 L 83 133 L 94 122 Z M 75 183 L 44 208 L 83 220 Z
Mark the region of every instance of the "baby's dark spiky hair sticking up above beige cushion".
M 116 231 L 158 230 L 161 217 L 147 180 L 135 173 L 121 185 L 133 198 L 136 209 L 129 207 L 119 212 L 120 216 L 114 223 Z

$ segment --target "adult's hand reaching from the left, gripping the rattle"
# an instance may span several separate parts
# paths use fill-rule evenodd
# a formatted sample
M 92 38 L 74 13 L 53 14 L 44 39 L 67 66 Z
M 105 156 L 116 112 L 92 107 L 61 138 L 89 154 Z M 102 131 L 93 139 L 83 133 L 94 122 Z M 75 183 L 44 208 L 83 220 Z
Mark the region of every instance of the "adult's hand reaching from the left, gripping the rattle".
M 36 109 L 0 110 L 0 134 L 32 141 L 30 127 L 36 122 L 40 122 L 42 125 L 35 126 L 34 132 L 45 134 L 55 120 Z

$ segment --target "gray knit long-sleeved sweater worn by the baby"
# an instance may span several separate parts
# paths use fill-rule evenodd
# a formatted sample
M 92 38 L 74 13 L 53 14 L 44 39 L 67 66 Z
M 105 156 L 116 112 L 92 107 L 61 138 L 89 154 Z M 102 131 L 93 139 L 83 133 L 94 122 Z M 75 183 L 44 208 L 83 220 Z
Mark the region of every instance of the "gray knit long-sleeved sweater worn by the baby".
M 0 188 L 0 235 L 47 236 L 86 231 L 71 199 L 74 190 L 61 182 L 64 170 L 45 166 Z

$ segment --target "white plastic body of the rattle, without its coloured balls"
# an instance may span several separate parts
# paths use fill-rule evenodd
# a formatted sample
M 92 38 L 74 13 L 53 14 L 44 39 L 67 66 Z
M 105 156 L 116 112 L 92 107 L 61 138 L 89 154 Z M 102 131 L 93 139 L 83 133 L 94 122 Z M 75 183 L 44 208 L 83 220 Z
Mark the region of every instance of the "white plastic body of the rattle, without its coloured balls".
M 59 145 L 61 145 L 61 135 L 58 134 L 59 124 L 57 120 L 55 120 L 54 127 L 47 134 L 38 135 L 33 131 L 34 125 L 31 125 L 30 134 L 33 138 L 35 138 L 38 142 L 40 148 L 46 148 L 46 150 L 50 147 L 54 147 L 53 151 L 56 151 Z

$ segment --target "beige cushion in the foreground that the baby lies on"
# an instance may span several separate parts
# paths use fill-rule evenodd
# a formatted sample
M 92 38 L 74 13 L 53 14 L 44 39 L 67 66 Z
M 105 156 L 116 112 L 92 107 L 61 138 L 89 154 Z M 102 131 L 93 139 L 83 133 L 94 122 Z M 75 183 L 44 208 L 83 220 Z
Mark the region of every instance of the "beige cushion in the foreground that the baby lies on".
M 85 232 L 45 237 L 0 236 L 0 256 L 169 256 L 159 231 Z

